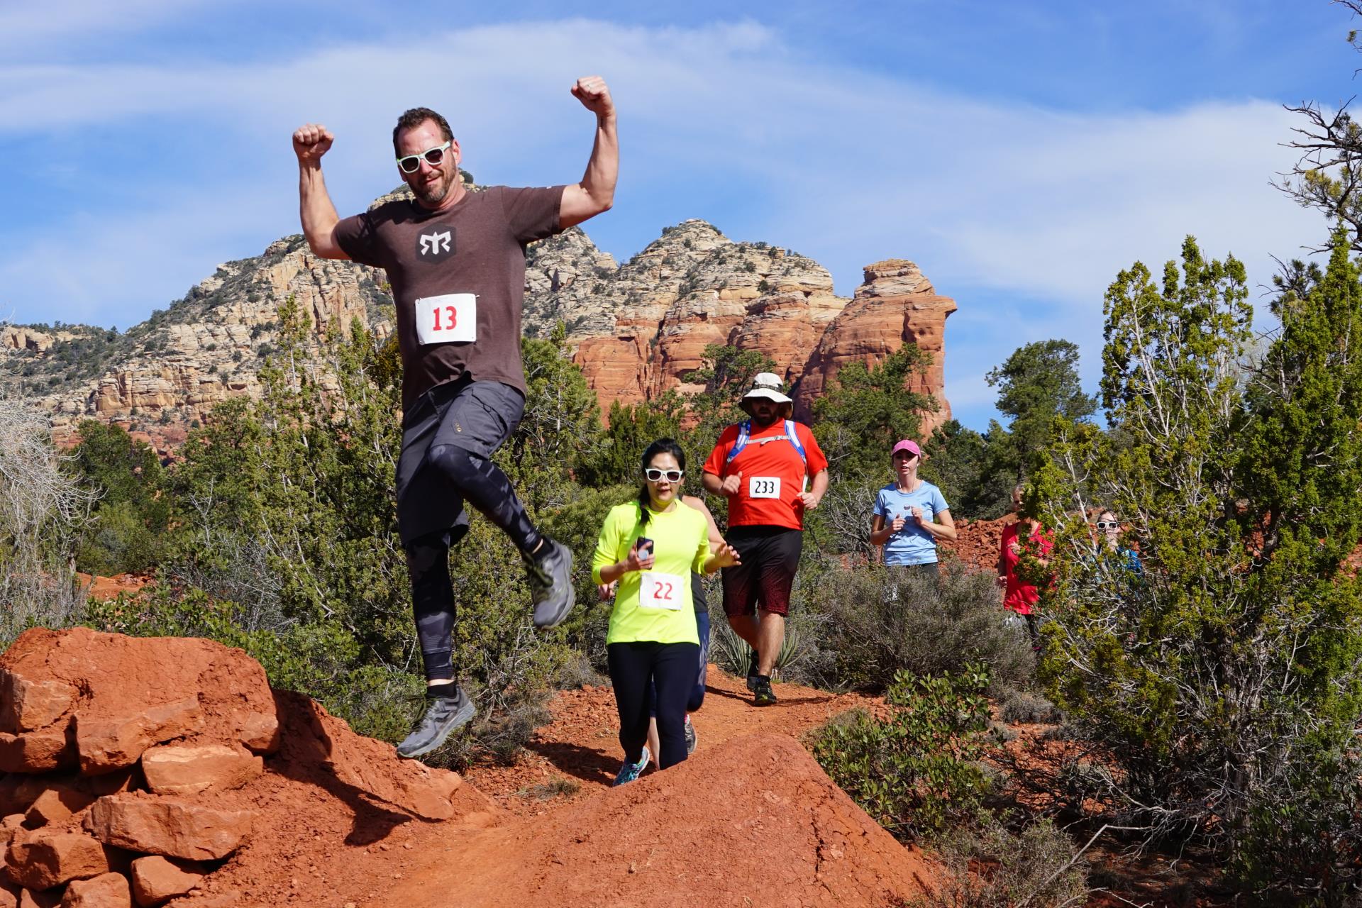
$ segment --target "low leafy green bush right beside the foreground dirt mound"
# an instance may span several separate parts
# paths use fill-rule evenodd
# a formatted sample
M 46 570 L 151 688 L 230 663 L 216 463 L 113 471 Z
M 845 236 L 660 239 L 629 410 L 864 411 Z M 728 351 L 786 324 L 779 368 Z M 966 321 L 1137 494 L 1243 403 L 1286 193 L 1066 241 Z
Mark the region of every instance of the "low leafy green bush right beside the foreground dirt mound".
M 888 720 L 864 711 L 812 734 L 832 780 L 902 841 L 940 834 L 979 817 L 989 783 L 977 762 L 989 742 L 989 671 L 913 678 L 889 687 Z

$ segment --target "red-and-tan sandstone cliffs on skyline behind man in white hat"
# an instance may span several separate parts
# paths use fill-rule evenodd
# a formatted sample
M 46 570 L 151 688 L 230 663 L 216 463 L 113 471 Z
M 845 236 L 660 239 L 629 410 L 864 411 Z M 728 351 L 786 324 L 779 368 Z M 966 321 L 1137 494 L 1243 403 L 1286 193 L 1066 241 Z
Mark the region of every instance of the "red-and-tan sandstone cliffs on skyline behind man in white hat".
M 943 395 L 944 332 L 955 301 L 937 295 L 911 261 L 868 265 L 865 283 L 847 304 L 834 295 L 832 276 L 816 263 L 783 249 L 729 242 L 699 221 L 680 225 L 644 253 L 644 264 L 681 264 L 632 275 L 648 290 L 633 291 L 637 301 L 620 309 L 612 334 L 577 335 L 573 361 L 597 392 L 602 412 L 614 400 L 633 404 L 671 388 L 703 391 L 685 376 L 704 365 L 708 344 L 725 344 L 771 357 L 775 372 L 797 385 L 795 412 L 808 419 L 812 402 L 825 393 L 842 366 L 874 366 L 913 342 L 932 355 L 932 365 L 911 388 L 932 395 L 941 407 L 923 414 L 922 437 L 951 418 Z M 632 286 L 631 270 L 642 267 L 624 265 L 621 282 Z M 678 282 L 681 274 L 684 282 Z

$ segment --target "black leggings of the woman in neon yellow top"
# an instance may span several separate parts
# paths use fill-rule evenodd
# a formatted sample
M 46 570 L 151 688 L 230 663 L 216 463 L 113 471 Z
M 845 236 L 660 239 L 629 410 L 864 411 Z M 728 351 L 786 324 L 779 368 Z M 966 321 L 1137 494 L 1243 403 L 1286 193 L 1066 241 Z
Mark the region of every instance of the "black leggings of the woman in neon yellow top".
M 639 762 L 648 739 L 648 689 L 658 689 L 658 766 L 685 760 L 685 701 L 695 686 L 700 647 L 693 643 L 613 643 L 605 648 L 620 711 L 624 758 Z M 651 682 L 651 683 L 650 683 Z

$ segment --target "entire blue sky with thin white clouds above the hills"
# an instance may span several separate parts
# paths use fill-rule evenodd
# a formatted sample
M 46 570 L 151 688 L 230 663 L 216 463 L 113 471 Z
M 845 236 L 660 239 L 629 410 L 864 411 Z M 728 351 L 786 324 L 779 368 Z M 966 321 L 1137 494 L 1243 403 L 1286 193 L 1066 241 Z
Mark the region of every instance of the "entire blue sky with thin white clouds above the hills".
M 647 7 L 647 8 L 643 8 Z M 684 7 L 684 8 L 682 8 Z M 1267 285 L 1325 225 L 1269 185 L 1283 103 L 1359 90 L 1327 0 L 391 4 L 0 0 L 0 319 L 125 328 L 297 227 L 289 133 L 338 135 L 342 214 L 398 182 L 388 136 L 445 113 L 481 182 L 580 177 L 620 109 L 618 260 L 704 218 L 827 265 L 917 261 L 959 312 L 947 398 L 978 429 L 1019 344 L 1080 344 L 1102 294 L 1185 234 Z M 568 14 L 571 10 L 571 15 Z

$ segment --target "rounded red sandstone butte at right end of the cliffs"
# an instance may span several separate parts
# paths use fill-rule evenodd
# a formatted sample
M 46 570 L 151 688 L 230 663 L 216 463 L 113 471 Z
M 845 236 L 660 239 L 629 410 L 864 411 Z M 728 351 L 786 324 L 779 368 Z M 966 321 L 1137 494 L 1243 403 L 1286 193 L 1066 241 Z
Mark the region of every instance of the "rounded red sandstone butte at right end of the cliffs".
M 866 265 L 865 283 L 832 320 L 809 357 L 795 396 L 795 412 L 806 418 L 813 402 L 831 385 L 849 362 L 878 365 L 907 342 L 932 354 L 926 376 L 910 388 L 929 393 L 941 408 L 923 414 L 922 438 L 951 419 L 951 404 L 941 395 L 945 387 L 945 320 L 955 312 L 955 299 L 937 295 L 922 271 L 903 259 Z

